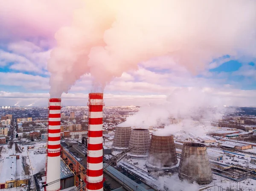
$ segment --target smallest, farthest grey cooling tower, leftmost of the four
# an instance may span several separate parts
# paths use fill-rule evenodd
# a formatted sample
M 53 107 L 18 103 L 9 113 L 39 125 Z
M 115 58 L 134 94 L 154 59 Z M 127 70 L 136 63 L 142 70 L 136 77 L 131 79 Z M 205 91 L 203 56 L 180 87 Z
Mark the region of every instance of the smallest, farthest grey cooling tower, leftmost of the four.
M 114 150 L 128 149 L 131 138 L 131 127 L 116 127 L 113 141 Z

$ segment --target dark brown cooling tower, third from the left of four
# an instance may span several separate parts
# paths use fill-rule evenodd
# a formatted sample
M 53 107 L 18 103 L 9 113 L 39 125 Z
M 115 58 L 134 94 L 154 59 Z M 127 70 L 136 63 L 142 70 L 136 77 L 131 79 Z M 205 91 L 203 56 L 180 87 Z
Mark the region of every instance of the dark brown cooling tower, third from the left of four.
M 170 168 L 177 162 L 173 135 L 158 136 L 153 133 L 148 152 L 148 166 Z

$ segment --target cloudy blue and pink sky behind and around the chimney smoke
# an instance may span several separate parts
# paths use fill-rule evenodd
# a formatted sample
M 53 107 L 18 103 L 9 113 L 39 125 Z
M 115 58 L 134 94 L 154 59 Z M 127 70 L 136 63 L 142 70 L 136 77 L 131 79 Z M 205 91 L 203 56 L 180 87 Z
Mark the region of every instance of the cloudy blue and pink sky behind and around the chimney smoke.
M 58 0 L 33 2 L 33 6 L 28 2 L 0 1 L 0 20 L 4 21 L 0 22 L 0 105 L 47 105 L 47 60 L 56 47 L 55 33 L 71 24 L 73 11 L 81 6 L 80 0 L 61 5 Z M 44 14 L 45 10 L 48 14 Z M 255 22 L 253 18 L 255 14 L 243 17 L 248 22 Z M 191 94 L 191 101 L 196 102 L 198 91 L 205 100 L 217 100 L 219 105 L 255 106 L 256 37 L 248 36 L 255 29 L 249 26 L 240 32 L 239 40 L 247 44 L 239 44 L 239 53 L 227 55 L 221 51 L 195 72 L 169 55 L 139 62 L 136 69 L 125 71 L 105 87 L 106 105 L 163 104 L 169 97 L 186 100 Z M 68 94 L 62 94 L 63 104 L 86 105 L 91 87 L 91 75 L 82 75 Z M 174 96 L 177 93 L 180 96 Z

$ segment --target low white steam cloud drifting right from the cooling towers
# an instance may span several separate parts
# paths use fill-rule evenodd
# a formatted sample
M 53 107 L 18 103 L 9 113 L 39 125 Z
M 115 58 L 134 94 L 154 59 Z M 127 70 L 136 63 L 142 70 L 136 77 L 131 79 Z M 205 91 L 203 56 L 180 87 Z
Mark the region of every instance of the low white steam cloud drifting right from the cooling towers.
M 180 88 L 174 90 L 167 97 L 163 105 L 147 105 L 140 108 L 136 114 L 128 117 L 124 123 L 119 124 L 121 127 L 140 127 L 169 125 L 170 117 L 176 119 L 181 117 L 182 123 L 166 127 L 166 132 L 170 134 L 175 131 L 191 128 L 193 125 L 192 118 L 196 119 L 221 119 L 226 112 L 223 106 L 225 100 L 219 96 L 210 96 L 204 89 L 199 88 Z M 198 135 L 199 136 L 199 135 Z

